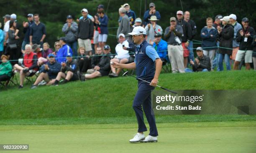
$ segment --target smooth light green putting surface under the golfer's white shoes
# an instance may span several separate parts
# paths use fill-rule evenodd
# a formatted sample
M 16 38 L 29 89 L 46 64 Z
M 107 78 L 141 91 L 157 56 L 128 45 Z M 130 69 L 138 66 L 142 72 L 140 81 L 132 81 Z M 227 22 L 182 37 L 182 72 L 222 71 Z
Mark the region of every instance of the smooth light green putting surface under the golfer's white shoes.
M 29 144 L 15 153 L 256 152 L 256 121 L 159 123 L 157 143 L 128 143 L 136 126 L 0 125 L 0 144 Z

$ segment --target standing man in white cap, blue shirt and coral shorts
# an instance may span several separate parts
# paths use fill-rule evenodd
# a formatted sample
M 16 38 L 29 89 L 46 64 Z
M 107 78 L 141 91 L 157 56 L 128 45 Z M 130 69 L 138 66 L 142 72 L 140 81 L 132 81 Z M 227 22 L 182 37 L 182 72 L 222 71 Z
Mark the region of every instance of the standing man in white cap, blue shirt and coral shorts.
M 234 15 L 234 14 L 229 15 L 229 21 L 230 21 L 231 25 L 234 27 L 232 60 L 235 61 L 236 54 L 239 50 L 239 45 L 240 45 L 240 43 L 238 43 L 236 41 L 236 34 L 237 34 L 238 30 L 242 28 L 242 25 L 236 21 L 236 15 Z

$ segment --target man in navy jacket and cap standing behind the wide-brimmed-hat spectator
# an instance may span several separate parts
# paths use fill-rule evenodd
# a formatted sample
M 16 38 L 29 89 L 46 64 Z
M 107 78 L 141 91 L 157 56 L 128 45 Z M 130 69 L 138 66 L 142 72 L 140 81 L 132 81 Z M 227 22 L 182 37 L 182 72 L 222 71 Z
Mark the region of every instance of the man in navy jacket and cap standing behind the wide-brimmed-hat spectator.
M 148 23 L 150 23 L 148 19 L 150 19 L 151 16 L 153 16 L 153 15 L 155 15 L 158 20 L 161 19 L 160 13 L 156 10 L 156 5 L 155 5 L 154 3 L 150 3 L 150 4 L 149 4 L 149 10 L 147 10 L 147 11 L 144 13 L 144 15 L 143 15 L 143 19 L 144 19 L 143 25 L 144 25 L 144 27 L 145 27 Z

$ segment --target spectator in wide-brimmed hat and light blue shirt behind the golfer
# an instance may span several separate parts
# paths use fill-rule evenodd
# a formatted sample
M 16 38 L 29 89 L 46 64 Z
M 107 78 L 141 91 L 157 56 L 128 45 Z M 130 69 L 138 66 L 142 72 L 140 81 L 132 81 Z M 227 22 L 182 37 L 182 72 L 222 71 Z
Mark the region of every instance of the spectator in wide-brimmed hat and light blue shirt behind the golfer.
M 156 18 L 156 16 L 152 15 L 150 19 L 150 23 L 148 23 L 148 25 L 146 25 L 145 30 L 146 30 L 146 35 L 147 35 L 147 42 L 151 43 L 154 41 L 155 39 L 155 34 L 156 33 L 163 33 L 163 29 L 161 28 L 160 25 L 156 24 L 156 21 L 158 21 L 158 19 Z

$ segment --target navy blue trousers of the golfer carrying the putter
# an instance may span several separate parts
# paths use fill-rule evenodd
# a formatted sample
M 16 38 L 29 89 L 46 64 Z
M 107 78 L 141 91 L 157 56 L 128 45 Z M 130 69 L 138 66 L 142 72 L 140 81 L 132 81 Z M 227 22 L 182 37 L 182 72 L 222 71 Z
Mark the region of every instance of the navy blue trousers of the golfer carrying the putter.
M 151 80 L 147 80 L 151 82 Z M 133 109 L 135 111 L 137 121 L 138 121 L 138 132 L 147 131 L 146 125 L 143 119 L 143 111 L 146 115 L 149 124 L 149 135 L 157 136 L 156 129 L 156 120 L 154 116 L 153 109 L 151 107 L 151 91 L 154 90 L 155 87 L 149 85 L 149 83 L 138 80 L 138 91 L 133 100 Z M 141 107 L 142 105 L 142 107 Z

